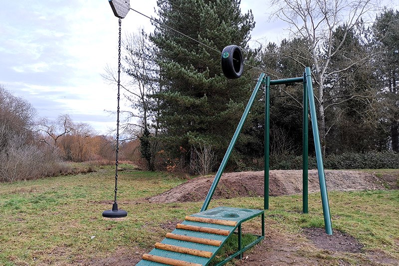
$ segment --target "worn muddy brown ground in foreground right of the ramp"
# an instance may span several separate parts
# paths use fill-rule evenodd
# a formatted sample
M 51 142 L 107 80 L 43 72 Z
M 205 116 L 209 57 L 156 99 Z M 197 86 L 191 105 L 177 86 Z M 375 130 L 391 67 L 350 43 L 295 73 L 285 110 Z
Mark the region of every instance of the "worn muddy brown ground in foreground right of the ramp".
M 323 229 L 305 229 L 303 234 L 286 234 L 268 230 L 262 243 L 244 253 L 235 266 L 397 266 L 399 261 L 382 251 L 364 251 L 353 237 L 334 230 L 332 236 Z

